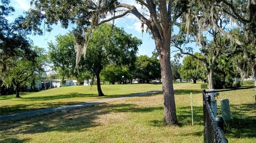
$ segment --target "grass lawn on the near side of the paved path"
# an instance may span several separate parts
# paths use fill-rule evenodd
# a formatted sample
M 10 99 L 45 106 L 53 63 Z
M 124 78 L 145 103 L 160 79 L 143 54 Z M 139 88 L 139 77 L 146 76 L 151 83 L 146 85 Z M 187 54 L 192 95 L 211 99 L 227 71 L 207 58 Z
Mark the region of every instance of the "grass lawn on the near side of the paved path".
M 179 126 L 164 125 L 163 96 L 157 94 L 1 122 L 0 142 L 203 142 L 200 85 L 175 86 Z M 190 118 L 190 92 L 194 126 Z M 255 142 L 252 129 L 255 127 L 248 127 L 250 134 L 243 130 L 226 137 L 229 142 Z

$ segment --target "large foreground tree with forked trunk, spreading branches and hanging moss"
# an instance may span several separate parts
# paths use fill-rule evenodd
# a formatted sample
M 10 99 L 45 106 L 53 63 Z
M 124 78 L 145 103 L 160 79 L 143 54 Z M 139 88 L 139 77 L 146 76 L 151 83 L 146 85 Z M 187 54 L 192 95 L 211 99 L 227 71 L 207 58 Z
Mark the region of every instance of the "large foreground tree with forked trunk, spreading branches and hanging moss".
M 152 1 L 137 0 L 147 15 L 140 13 L 137 7 L 117 1 L 57 1 L 57 0 L 34 0 L 34 8 L 27 13 L 25 25 L 30 30 L 35 30 L 42 34 L 39 28 L 42 23 L 51 30 L 52 24 L 61 23 L 62 27 L 67 28 L 68 24 L 76 23 L 76 47 L 77 62 L 82 53 L 86 54 L 86 47 L 93 29 L 102 23 L 121 18 L 128 13 L 135 15 L 148 31 L 152 34 L 161 64 L 161 74 L 164 95 L 164 121 L 172 125 L 178 124 L 176 107 L 174 100 L 174 90 L 172 81 L 172 70 L 170 63 L 170 43 L 174 23 L 187 10 L 188 1 Z M 121 14 L 117 14 L 117 11 Z M 109 19 L 106 18 L 108 12 L 114 13 Z M 103 19 L 103 20 L 102 20 Z M 87 29 L 90 26 L 92 30 Z

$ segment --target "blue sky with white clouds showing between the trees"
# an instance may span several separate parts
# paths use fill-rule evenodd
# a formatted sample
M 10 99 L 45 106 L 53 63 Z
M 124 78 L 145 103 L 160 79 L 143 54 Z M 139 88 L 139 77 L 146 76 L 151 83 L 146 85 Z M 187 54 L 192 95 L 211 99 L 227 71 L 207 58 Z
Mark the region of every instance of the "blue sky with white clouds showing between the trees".
M 120 0 L 120 2 L 135 5 L 139 11 L 143 11 L 143 9 L 141 9 L 141 6 L 135 3 L 134 1 Z M 22 15 L 23 12 L 27 11 L 30 8 L 30 0 L 11 0 L 10 5 L 14 7 L 15 12 L 13 13 L 13 15 L 10 15 L 7 19 L 12 21 L 18 15 Z M 117 19 L 115 20 L 115 24 L 117 27 L 124 28 L 124 30 L 127 33 L 131 33 L 132 36 L 142 39 L 142 45 L 139 47 L 138 55 L 152 55 L 152 52 L 155 49 L 155 42 L 151 38 L 151 36 L 146 32 L 143 32 L 142 36 L 141 22 L 134 15 L 129 14 L 124 18 Z M 53 26 L 53 30 L 51 32 L 45 31 L 43 36 L 30 35 L 29 37 L 31 40 L 33 40 L 34 45 L 47 49 L 47 43 L 49 43 L 50 41 L 54 42 L 55 36 L 57 35 L 65 35 L 67 32 L 69 32 L 69 30 L 72 29 L 72 27 L 73 26 L 69 26 L 68 29 L 63 29 L 60 27 L 60 25 L 57 25 Z M 146 31 L 146 29 L 144 31 Z M 175 28 L 174 32 L 177 31 L 177 28 Z M 195 45 L 193 44 L 192 46 Z M 171 51 L 175 50 L 177 49 L 171 49 Z M 198 47 L 196 51 L 198 51 Z

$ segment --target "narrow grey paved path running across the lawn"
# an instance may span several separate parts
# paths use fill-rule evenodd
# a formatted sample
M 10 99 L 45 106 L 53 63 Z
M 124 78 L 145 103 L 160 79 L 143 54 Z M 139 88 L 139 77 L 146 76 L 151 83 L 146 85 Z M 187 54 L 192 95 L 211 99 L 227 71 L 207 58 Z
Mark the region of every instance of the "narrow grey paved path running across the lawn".
M 158 93 L 161 93 L 161 92 L 163 92 L 163 91 L 162 90 L 149 91 L 149 92 L 132 94 L 132 95 L 117 97 L 117 98 L 107 98 L 107 99 L 95 100 L 94 102 L 84 102 L 84 103 L 80 103 L 80 104 L 76 104 L 76 105 L 70 105 L 70 106 L 46 108 L 46 109 L 43 109 L 43 110 L 35 110 L 35 111 L 29 111 L 29 112 L 23 112 L 23 113 L 11 114 L 11 115 L 4 115 L 4 116 L 0 116 L 0 122 L 5 121 L 5 120 L 20 119 L 20 118 L 23 118 L 23 117 L 35 116 L 35 115 L 40 115 L 40 114 L 45 114 L 45 113 L 52 113 L 52 112 L 63 111 L 63 110 L 71 110 L 71 109 L 78 108 L 78 107 L 84 107 L 84 106 L 100 104 L 100 103 L 107 103 L 107 102 L 111 102 L 111 101 L 114 101 L 114 100 L 126 99 L 126 98 L 130 98 L 130 97 L 135 97 L 135 96 L 145 96 L 145 95 L 151 95 L 151 94 L 158 94 Z

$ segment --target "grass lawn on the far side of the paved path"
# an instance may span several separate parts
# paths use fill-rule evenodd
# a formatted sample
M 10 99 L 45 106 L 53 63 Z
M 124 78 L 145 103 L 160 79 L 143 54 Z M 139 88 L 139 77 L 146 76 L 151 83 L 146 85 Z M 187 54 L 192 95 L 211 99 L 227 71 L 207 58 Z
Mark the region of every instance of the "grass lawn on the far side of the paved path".
M 177 88 L 187 85 L 191 84 L 174 84 Z M 22 98 L 15 98 L 15 95 L 0 96 L 0 115 L 92 102 L 102 98 L 119 97 L 152 90 L 162 90 L 162 85 L 102 85 L 102 91 L 106 95 L 103 97 L 98 96 L 97 86 L 71 86 L 41 92 L 25 92 L 21 94 Z

